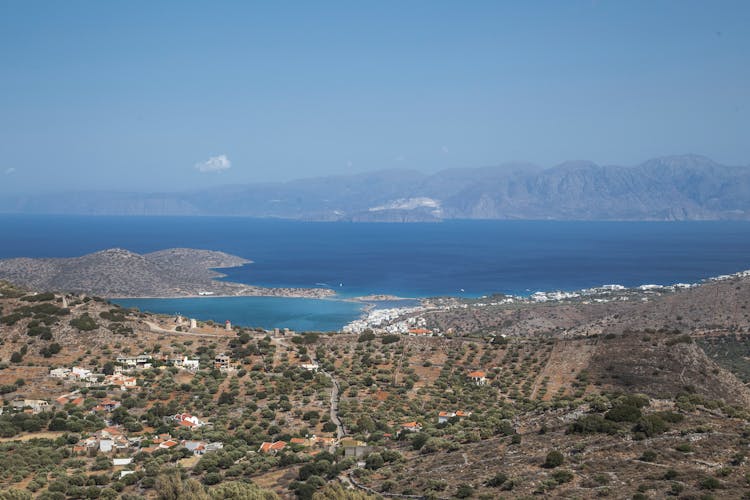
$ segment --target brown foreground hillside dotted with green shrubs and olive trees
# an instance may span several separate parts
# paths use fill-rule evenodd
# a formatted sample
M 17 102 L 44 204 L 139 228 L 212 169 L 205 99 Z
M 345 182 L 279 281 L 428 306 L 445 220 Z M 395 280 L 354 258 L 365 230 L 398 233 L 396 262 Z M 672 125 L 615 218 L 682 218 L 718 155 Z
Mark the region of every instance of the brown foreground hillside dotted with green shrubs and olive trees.
M 0 487 L 71 498 L 179 497 L 236 481 L 306 499 L 354 485 L 421 498 L 742 498 L 750 390 L 735 373 L 748 363 L 749 287 L 737 276 L 645 302 L 467 306 L 450 310 L 446 336 L 285 336 L 188 328 L 99 299 L 67 296 L 63 308 L 60 295 L 0 284 Z M 149 366 L 135 365 L 141 354 Z M 196 369 L 171 366 L 183 357 Z M 74 366 L 100 375 L 50 376 Z M 120 370 L 137 387 L 107 382 Z M 51 408 L 14 412 L 24 399 Z M 181 427 L 181 412 L 210 425 Z M 130 444 L 76 451 L 102 432 Z M 161 447 L 166 434 L 175 444 Z M 13 441 L 33 437 L 45 439 Z M 192 442 L 222 448 L 194 456 Z M 62 465 L 40 465 L 45 455 Z M 79 484 L 86 475 L 96 479 Z

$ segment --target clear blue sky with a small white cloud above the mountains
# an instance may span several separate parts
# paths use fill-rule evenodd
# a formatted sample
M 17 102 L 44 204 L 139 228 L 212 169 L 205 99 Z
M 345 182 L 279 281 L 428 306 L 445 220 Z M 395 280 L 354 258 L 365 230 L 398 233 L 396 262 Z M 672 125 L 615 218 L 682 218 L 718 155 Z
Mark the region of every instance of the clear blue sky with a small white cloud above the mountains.
M 750 2 L 0 2 L 0 194 L 750 164 Z

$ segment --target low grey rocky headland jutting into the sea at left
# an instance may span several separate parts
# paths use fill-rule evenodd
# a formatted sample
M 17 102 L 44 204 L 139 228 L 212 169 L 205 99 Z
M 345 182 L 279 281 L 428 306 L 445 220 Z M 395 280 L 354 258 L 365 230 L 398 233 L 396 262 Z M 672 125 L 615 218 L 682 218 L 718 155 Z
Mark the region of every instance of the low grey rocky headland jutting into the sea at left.
M 267 295 L 322 297 L 325 289 L 263 288 L 221 281 L 215 269 L 249 261 L 223 252 L 172 248 L 144 255 L 112 248 L 75 258 L 0 260 L 0 279 L 37 290 L 102 297 Z

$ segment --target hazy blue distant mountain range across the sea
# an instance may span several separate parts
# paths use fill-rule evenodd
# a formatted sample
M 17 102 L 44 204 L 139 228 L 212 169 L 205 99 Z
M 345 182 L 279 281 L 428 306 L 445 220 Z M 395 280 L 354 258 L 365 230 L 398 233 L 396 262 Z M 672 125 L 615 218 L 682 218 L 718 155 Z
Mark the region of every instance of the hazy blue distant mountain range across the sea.
M 8 196 L 0 212 L 234 215 L 320 221 L 443 219 L 750 219 L 750 167 L 697 155 L 634 167 L 587 161 L 413 170 L 226 186 L 183 193 L 76 192 Z

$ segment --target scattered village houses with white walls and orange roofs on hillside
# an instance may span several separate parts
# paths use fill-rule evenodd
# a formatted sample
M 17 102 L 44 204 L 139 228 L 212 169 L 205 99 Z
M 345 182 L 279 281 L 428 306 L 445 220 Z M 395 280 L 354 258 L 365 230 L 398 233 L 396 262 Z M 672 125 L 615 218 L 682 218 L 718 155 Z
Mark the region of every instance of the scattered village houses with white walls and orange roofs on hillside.
M 67 305 L 67 304 L 66 304 Z M 180 333 L 183 325 L 189 324 L 189 331 L 216 332 L 215 327 L 199 326 L 195 320 L 186 322 L 181 317 L 159 318 L 152 320 L 149 326 L 152 330 L 174 331 Z M 419 323 L 416 323 L 419 325 Z M 201 330 L 202 328 L 202 330 Z M 167 330 L 169 329 L 169 330 Z M 236 336 L 231 323 L 225 323 L 221 333 L 231 333 Z M 275 330 L 263 332 L 266 340 L 275 343 L 278 347 L 294 349 L 290 340 L 295 335 L 289 330 Z M 433 332 L 421 327 L 414 326 L 408 330 L 411 336 L 430 336 Z M 247 334 L 245 334 L 247 335 Z M 271 337 L 272 336 L 272 337 Z M 305 352 L 304 348 L 301 348 Z M 322 373 L 333 381 L 331 385 L 338 388 L 339 383 L 333 379 L 330 373 L 323 372 L 318 362 L 308 356 L 299 356 L 297 368 L 310 374 Z M 202 456 L 224 449 L 222 441 L 212 440 L 209 437 L 213 429 L 212 415 L 196 416 L 182 409 L 174 414 L 162 416 L 154 425 L 143 425 L 139 420 L 139 412 L 130 413 L 124 406 L 128 403 L 129 395 L 144 389 L 155 380 L 153 376 L 144 378 L 144 374 L 153 373 L 183 373 L 186 377 L 194 377 L 203 372 L 216 371 L 227 375 L 236 375 L 243 370 L 241 360 L 233 359 L 228 353 L 217 353 L 203 363 L 199 357 L 187 355 L 173 356 L 156 353 L 141 353 L 138 355 L 120 354 L 103 363 L 103 369 L 93 371 L 79 365 L 54 367 L 49 370 L 48 377 L 57 381 L 57 384 L 65 388 L 59 395 L 50 400 L 26 399 L 16 397 L 6 401 L 6 406 L 0 407 L 0 415 L 10 416 L 15 413 L 25 415 L 43 416 L 53 415 L 55 412 L 65 412 L 68 415 L 79 415 L 91 425 L 84 428 L 73 427 L 78 431 L 79 439 L 68 444 L 71 456 L 81 456 L 89 459 L 107 460 L 117 472 L 120 479 L 135 474 L 142 460 L 136 460 L 143 455 L 160 454 L 165 451 L 177 452 L 177 463 L 182 466 L 195 466 L 197 460 Z M 466 374 L 467 381 L 476 386 L 487 383 L 486 373 L 482 371 L 471 371 Z M 304 435 L 262 441 L 254 453 L 260 455 L 275 456 L 279 453 L 294 453 L 301 456 L 315 457 L 327 452 L 330 454 L 341 453 L 344 458 L 356 461 L 356 466 L 364 468 L 367 466 L 367 457 L 376 450 L 383 449 L 383 442 L 371 445 L 363 438 L 362 433 L 356 435 L 348 434 L 341 423 L 339 415 L 336 414 L 339 395 L 336 390 L 331 394 L 331 418 L 336 422 L 330 428 L 324 426 L 324 431 L 318 435 L 305 432 Z M 436 411 L 433 417 L 433 425 L 446 425 L 449 422 L 459 421 L 470 417 L 471 411 L 464 409 L 447 409 Z M 142 420 L 143 414 L 140 413 Z M 419 420 L 408 422 L 394 422 L 393 433 L 383 433 L 382 439 L 397 440 L 403 435 L 421 433 L 423 431 L 424 416 Z M 153 423 L 153 422 L 152 422 Z M 50 429 L 56 428 L 50 424 Z M 61 430 L 70 430 L 65 426 Z M 253 452 L 251 452 L 253 453 Z

